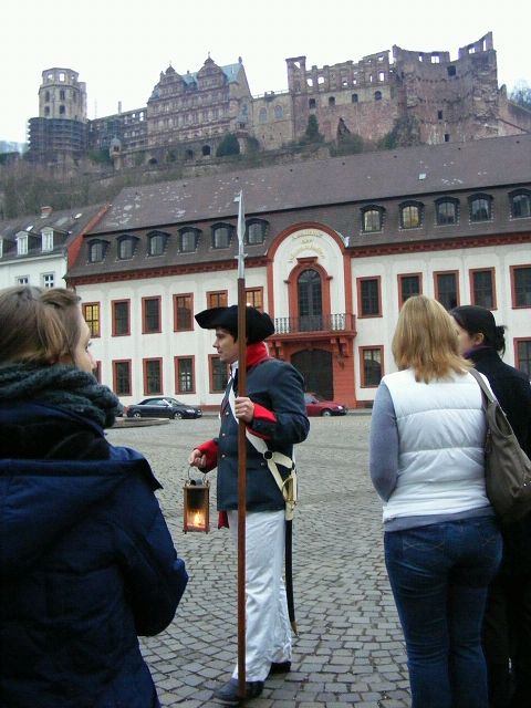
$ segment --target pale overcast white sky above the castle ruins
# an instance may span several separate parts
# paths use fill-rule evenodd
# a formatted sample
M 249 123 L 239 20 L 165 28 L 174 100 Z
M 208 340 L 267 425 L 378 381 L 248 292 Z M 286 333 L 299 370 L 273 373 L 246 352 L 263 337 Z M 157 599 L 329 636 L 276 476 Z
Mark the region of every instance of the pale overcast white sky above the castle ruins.
M 491 31 L 498 81 L 531 84 L 529 0 L 3 0 L 0 140 L 25 142 L 46 69 L 86 83 L 88 118 L 146 106 L 169 64 L 197 72 L 241 56 L 252 95 L 285 91 L 285 59 L 306 66 L 392 50 L 449 51 Z

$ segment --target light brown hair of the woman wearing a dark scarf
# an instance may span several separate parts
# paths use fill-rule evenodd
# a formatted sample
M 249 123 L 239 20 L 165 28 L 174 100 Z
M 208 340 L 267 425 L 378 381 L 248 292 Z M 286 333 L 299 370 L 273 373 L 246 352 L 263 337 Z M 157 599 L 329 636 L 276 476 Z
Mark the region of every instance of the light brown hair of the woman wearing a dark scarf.
M 55 364 L 81 336 L 81 299 L 64 288 L 18 285 L 0 290 L 0 365 Z

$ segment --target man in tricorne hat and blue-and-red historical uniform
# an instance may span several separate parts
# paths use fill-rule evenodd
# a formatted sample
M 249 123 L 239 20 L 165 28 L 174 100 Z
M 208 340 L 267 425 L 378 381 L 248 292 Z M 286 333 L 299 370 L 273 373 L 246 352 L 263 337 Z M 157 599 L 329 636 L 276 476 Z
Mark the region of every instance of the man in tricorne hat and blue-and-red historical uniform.
M 254 308 L 247 308 L 246 313 L 247 396 L 238 396 L 238 306 L 212 308 L 196 315 L 199 326 L 216 330 L 214 348 L 230 366 L 230 379 L 221 403 L 219 436 L 198 445 L 189 462 L 204 472 L 218 468 L 218 510 L 236 540 L 238 425 L 246 423 L 246 698 L 253 698 L 262 693 L 270 673 L 290 670 L 291 629 L 282 580 L 285 502 L 268 457 L 252 438 L 262 446 L 264 441 L 282 461 L 291 461 L 293 445 L 306 438 L 310 423 L 302 376 L 291 364 L 269 356 L 264 340 L 274 332 L 271 317 Z M 277 469 L 282 479 L 289 473 L 281 465 Z M 215 698 L 225 705 L 240 702 L 238 667 Z

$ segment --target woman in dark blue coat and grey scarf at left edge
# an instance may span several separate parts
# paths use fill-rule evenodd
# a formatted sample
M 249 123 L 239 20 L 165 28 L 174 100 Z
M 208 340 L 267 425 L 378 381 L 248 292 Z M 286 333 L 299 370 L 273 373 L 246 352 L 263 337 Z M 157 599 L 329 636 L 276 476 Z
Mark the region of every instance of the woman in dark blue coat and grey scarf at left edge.
M 110 445 L 67 290 L 0 291 L 0 707 L 155 708 L 137 635 L 187 582 L 138 452 Z

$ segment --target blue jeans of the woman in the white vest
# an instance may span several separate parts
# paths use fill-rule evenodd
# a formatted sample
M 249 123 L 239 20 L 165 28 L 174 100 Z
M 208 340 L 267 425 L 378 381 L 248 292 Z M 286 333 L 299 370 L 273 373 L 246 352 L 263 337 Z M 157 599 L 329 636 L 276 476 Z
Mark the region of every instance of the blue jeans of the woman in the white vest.
M 488 707 L 481 624 L 501 550 L 501 534 L 490 517 L 385 533 L 412 708 Z

